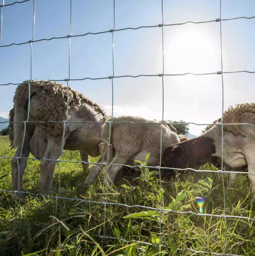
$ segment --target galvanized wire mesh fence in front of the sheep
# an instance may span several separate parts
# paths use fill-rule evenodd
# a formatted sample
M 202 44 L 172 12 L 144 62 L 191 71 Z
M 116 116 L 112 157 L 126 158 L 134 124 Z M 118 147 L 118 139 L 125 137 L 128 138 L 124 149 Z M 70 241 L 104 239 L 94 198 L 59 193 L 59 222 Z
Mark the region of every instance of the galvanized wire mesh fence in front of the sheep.
M 33 14 L 33 30 L 32 30 L 32 36 L 31 36 L 31 41 L 28 41 L 28 42 L 23 42 L 23 43 L 12 43 L 12 44 L 9 44 L 9 45 L 1 45 L 1 32 L 2 32 L 2 22 L 3 22 L 3 19 L 2 19 L 2 13 L 4 12 L 4 8 L 10 8 L 9 6 L 11 5 L 14 5 L 14 4 L 21 4 L 21 3 L 24 3 L 24 2 L 28 2 L 28 1 L 32 1 L 33 2 L 33 7 L 34 7 L 34 14 Z M 220 18 L 217 18 L 215 20 L 210 20 L 210 21 L 200 21 L 200 22 L 192 22 L 192 21 L 187 21 L 187 22 L 184 22 L 184 23 L 176 23 L 176 24 L 164 24 L 164 19 L 163 19 L 163 0 L 161 0 L 161 16 L 162 16 L 162 23 L 161 24 L 158 24 L 158 25 L 154 25 L 154 26 L 140 26 L 140 27 L 137 27 L 137 28 L 131 28 L 131 27 L 128 27 L 128 28 L 122 28 L 122 29 L 115 29 L 115 0 L 114 1 L 114 8 L 113 8 L 113 29 L 110 29 L 108 31 L 102 31 L 102 32 L 96 32 L 96 33 L 92 33 L 92 32 L 88 32 L 88 33 L 85 33 L 85 34 L 80 34 L 80 35 L 72 35 L 72 0 L 70 0 L 70 35 L 67 35 L 67 36 L 62 36 L 62 37 L 52 37 L 50 39 L 39 39 L 39 40 L 34 40 L 34 24 L 35 24 L 35 0 L 25 0 L 25 1 L 21 1 L 21 2 L 14 2 L 14 3 L 11 3 L 11 4 L 4 4 L 4 0 L 3 0 L 3 3 L 2 5 L 0 5 L 0 11 L 1 11 L 1 23 L 0 23 L 0 47 L 9 47 L 9 46 L 12 46 L 12 45 L 23 45 L 23 44 L 30 44 L 30 49 L 31 49 L 31 52 L 30 52 L 30 82 L 28 82 L 28 87 L 29 87 L 29 97 L 28 97 L 28 115 L 27 115 L 27 120 L 24 120 L 24 122 L 16 122 L 16 123 L 24 123 L 24 136 L 23 136 L 23 141 L 22 141 L 22 146 L 21 146 L 21 152 L 20 152 L 20 156 L 19 157 L 5 157 L 5 156 L 0 156 L 0 158 L 4 158 L 4 159 L 16 159 L 17 160 L 17 164 L 18 164 L 18 190 L 17 191 L 9 191 L 9 190 L 0 190 L 2 193 L 12 193 L 15 197 L 15 211 L 16 211 L 16 203 L 17 203 L 17 193 L 19 194 L 22 194 L 22 193 L 25 193 L 25 194 L 29 194 L 31 196 L 37 196 L 37 195 L 40 195 L 40 196 L 44 196 L 44 197 L 48 197 L 48 198 L 53 198 L 56 200 L 56 211 L 55 211 L 55 214 L 57 215 L 57 206 L 58 206 L 58 200 L 61 199 L 61 200 L 70 200 L 70 201 L 80 201 L 80 202 L 84 202 L 84 203 L 93 203 L 93 204 L 101 204 L 101 205 L 104 205 L 104 225 L 103 225 L 103 235 L 100 235 L 100 238 L 102 238 L 102 241 L 104 238 L 107 238 L 107 239 L 113 239 L 113 240 L 119 240 L 120 238 L 117 238 L 117 237 L 108 237 L 108 236 L 105 236 L 105 223 L 106 223 L 106 207 L 107 205 L 115 205 L 115 206 L 124 206 L 124 207 L 127 207 L 127 208 L 142 208 L 142 209 L 149 209 L 149 210 L 157 210 L 160 212 L 160 221 L 159 221 L 159 228 L 160 228 L 160 232 L 159 232 L 159 244 L 156 245 L 156 244 L 151 244 L 151 243 L 147 243 L 147 242 L 142 242 L 142 241 L 136 241 L 140 244 L 144 244 L 144 245 L 150 245 L 150 246 L 159 246 L 159 250 L 161 250 L 161 214 L 162 212 L 172 212 L 172 213 L 179 213 L 179 214 L 194 214 L 194 215 L 201 215 L 201 216 L 215 216 L 215 217 L 219 217 L 219 218 L 223 218 L 224 219 L 224 222 L 225 222 L 225 244 L 226 244 L 226 233 L 227 233 L 227 219 L 229 218 L 236 218 L 236 219 L 245 219 L 245 220 L 254 220 L 253 218 L 250 218 L 250 217 L 245 217 L 245 216 L 232 216 L 232 215 L 226 215 L 226 199 L 225 199 L 225 185 L 224 185 L 224 179 L 223 179 L 223 174 L 226 174 L 226 173 L 242 173 L 242 174 L 249 174 L 249 175 L 255 175 L 253 173 L 247 173 L 247 172 L 234 172 L 234 171 L 225 171 L 223 170 L 223 126 L 224 125 L 237 125 L 237 124 L 224 124 L 223 123 L 223 110 L 224 110 L 224 84 L 223 84 L 223 74 L 224 73 L 238 73 L 238 72 L 247 72 L 247 73 L 255 73 L 255 71 L 246 71 L 246 70 L 240 70 L 240 71 L 230 71 L 230 72 L 224 72 L 223 69 L 222 69 L 222 41 L 221 41 L 221 22 L 222 21 L 226 21 L 226 20 L 234 20 L 234 19 L 253 19 L 255 18 L 255 16 L 253 17 L 235 17 L 235 18 L 229 18 L 229 19 L 221 19 L 221 0 L 220 0 L 220 6 L 219 6 L 219 16 Z M 165 74 L 164 73 L 164 40 L 163 40 L 163 36 L 164 36 L 164 27 L 165 26 L 176 26 L 176 25 L 184 25 L 184 24 L 187 24 L 187 23 L 194 23 L 194 24 L 199 24 L 199 23 L 209 23 L 209 22 L 219 22 L 220 24 L 220 52 L 221 52 L 221 70 L 220 71 L 217 71 L 217 72 L 212 72 L 212 73 L 201 73 L 201 74 L 194 74 L 194 73 L 185 73 L 185 74 Z M 153 75 L 137 75 L 137 76 L 132 76 L 132 75 L 124 75 L 124 76 L 115 76 L 114 75 L 114 33 L 115 32 L 118 32 L 118 31 L 121 31 L 121 30 L 127 30 L 127 29 L 140 29 L 140 28 L 153 28 L 153 27 L 159 27 L 161 28 L 161 31 L 162 31 L 162 73 L 161 74 L 153 74 Z M 86 36 L 88 34 L 101 34 L 101 33 L 112 33 L 112 69 L 113 69 L 113 73 L 112 73 L 112 76 L 109 76 L 109 77 L 101 77 L 101 78 L 90 78 L 90 77 L 86 77 L 86 78 L 81 78 L 81 79 L 71 79 L 70 78 L 70 50 L 71 50 L 71 38 L 72 37 L 78 37 L 78 36 Z M 65 78 L 65 79 L 62 79 L 62 80 L 49 80 L 49 81 L 65 81 L 66 84 L 67 84 L 67 109 L 66 109 L 66 112 L 67 112 L 67 118 L 66 120 L 63 120 L 62 122 L 57 122 L 57 121 L 48 121 L 48 122 L 52 122 L 52 123 L 63 123 L 63 138 L 62 138 L 62 148 L 61 148 L 61 156 L 60 156 L 60 159 L 46 159 L 46 158 L 41 158 L 41 159 L 35 159 L 35 158 L 31 158 L 31 157 L 22 157 L 22 151 L 23 151 L 23 146 L 24 146 L 24 140 L 25 140 L 25 133 L 26 133 L 26 124 L 27 123 L 34 123 L 34 122 L 39 122 L 39 123 L 42 123 L 42 124 L 45 124 L 45 123 L 48 123 L 48 122 L 42 122 L 42 121 L 29 121 L 29 108 L 30 108 L 30 86 L 31 84 L 33 83 L 36 83 L 36 81 L 32 81 L 32 44 L 33 43 L 36 43 L 36 42 L 39 42 L 39 41 L 50 41 L 50 40 L 54 40 L 54 39 L 65 39 L 65 38 L 68 38 L 69 40 L 69 61 L 68 61 L 68 78 Z M 161 159 L 162 159 L 162 125 L 163 124 L 172 124 L 172 123 L 167 123 L 167 122 L 164 122 L 164 76 L 183 76 L 183 75 L 187 75 L 187 74 L 192 74 L 192 75 L 221 75 L 221 81 L 222 81 L 222 121 L 220 124 L 197 124 L 197 123 L 186 123 L 186 124 L 194 124 L 194 125 L 221 125 L 221 128 L 222 128 L 222 162 L 221 162 L 221 170 L 219 171 L 213 171 L 213 170 L 195 170 L 195 169 L 192 169 L 192 168 L 185 168 L 185 169 L 178 169 L 178 168 L 168 168 L 168 167 L 162 167 L 161 166 Z M 140 77 L 140 76 L 159 76 L 161 77 L 162 79 L 162 121 L 160 121 L 159 123 L 152 123 L 152 122 L 137 122 L 137 123 L 133 123 L 133 122 L 114 122 L 113 121 L 113 100 L 114 100 L 114 79 L 115 78 L 122 78 L 122 77 L 133 77 L 133 78 L 136 78 L 136 77 Z M 64 134 L 65 134 L 65 129 L 66 129 L 66 124 L 67 123 L 91 123 L 91 124 L 102 124 L 102 123 L 106 123 L 106 122 L 89 122 L 89 121 L 83 121 L 83 122 L 70 122 L 68 121 L 68 108 L 69 108 L 69 99 L 68 99 L 68 96 L 69 96 L 69 86 L 68 86 L 68 81 L 77 81 L 77 80 L 85 80 L 85 79 L 91 79 L 91 80 L 97 80 L 97 79 L 111 79 L 111 85 L 112 85 L 112 88 L 111 88 L 111 94 L 112 94 L 112 111 L 111 111 L 111 121 L 107 122 L 109 124 L 109 143 L 110 143 L 110 130 L 111 130 L 111 125 L 114 124 L 114 123 L 133 123 L 133 124 L 140 124 L 140 123 L 148 123 L 148 124 L 151 124 L 151 125 L 161 125 L 161 136 L 160 136 L 160 163 L 159 163 L 159 166 L 148 166 L 148 168 L 156 168 L 159 170 L 159 180 L 160 180 L 160 190 L 162 192 L 162 184 L 161 184 L 161 170 L 162 169 L 168 169 L 168 170 L 181 170 L 181 171 L 184 171 L 184 170 L 191 170 L 191 171 L 194 171 L 194 172 L 207 172 L 207 173 L 218 173 L 219 175 L 222 176 L 222 182 L 223 182 L 223 199 L 224 199 L 224 214 L 221 214 L 221 215 L 216 215 L 216 214 L 206 214 L 206 213 L 195 213 L 195 212 L 192 212 L 192 211 L 174 211 L 174 210 L 169 210 L 169 209 L 164 209 L 162 207 L 162 203 L 160 205 L 160 208 L 154 208 L 154 207 L 146 207 L 146 206 L 142 206 L 142 205 L 126 205 L 126 204 L 121 204 L 121 203 L 111 203 L 111 202 L 108 202 L 108 190 L 107 190 L 107 186 L 106 186 L 106 202 L 95 202 L 95 201 L 90 201 L 90 200 L 83 200 L 83 199 L 79 199 L 79 198 L 74 198 L 74 199 L 71 199 L 71 198 L 64 198 L 64 197 L 61 197 L 61 194 L 60 194 L 60 162 L 69 162 L 69 163 L 79 163 L 79 162 L 82 162 L 82 163 L 87 163 L 85 161 L 67 161 L 67 160 L 62 160 L 62 154 L 63 154 L 63 148 L 64 148 Z M 19 85 L 21 83 L 7 83 L 7 84 L 0 84 L 1 86 L 7 86 L 7 85 Z M 0 122 L 0 123 L 6 123 L 6 122 Z M 9 123 L 14 123 L 14 122 L 9 122 Z M 182 124 L 183 125 L 183 124 Z M 249 125 L 249 126 L 255 126 L 255 125 L 251 125 L 251 124 L 247 124 L 247 123 L 238 123 L 238 125 Z M 108 147 L 109 149 L 109 147 Z M 109 155 L 109 154 L 108 154 Z M 33 193 L 30 193 L 30 192 L 24 192 L 24 191 L 19 191 L 20 189 L 20 166 L 19 166 L 19 160 L 21 159 L 33 159 L 33 160 L 38 160 L 38 161 L 41 161 L 41 160 L 48 160 L 48 161 L 55 161 L 56 163 L 58 163 L 58 173 L 59 173 L 59 195 L 58 196 L 49 196 L 49 195 L 44 195 L 44 194 L 33 194 Z M 95 164 L 95 163 L 91 163 L 90 164 Z M 129 168 L 132 168 L 133 166 L 129 166 L 129 165 L 126 165 L 126 164 L 114 164 L 114 163 L 109 163 L 109 159 L 107 157 L 107 162 L 104 163 L 105 164 L 105 172 L 106 172 L 106 176 L 107 176 L 107 166 L 108 165 L 121 165 L 123 167 L 129 167 Z M 137 165 L 137 167 L 140 167 L 141 165 Z M 163 193 L 162 193 L 163 195 Z M 130 243 L 130 242 L 133 242 L 132 241 L 126 241 L 124 239 L 121 239 L 123 242 L 126 242 L 126 243 Z M 189 249 L 189 248 L 186 248 L 186 249 L 180 249 L 178 248 L 179 251 L 183 251 L 183 250 L 187 250 L 187 251 L 191 251 L 193 253 L 206 253 L 206 254 L 212 254 L 212 255 L 225 255 L 226 254 L 226 247 L 225 247 L 225 244 L 224 244 L 224 252 L 222 254 L 219 254 L 219 253 L 213 253 L 213 252 L 204 252 L 204 251 L 196 251 L 196 250 L 193 250 L 193 249 Z M 235 254 L 228 254 L 228 255 L 233 255 L 235 256 Z

